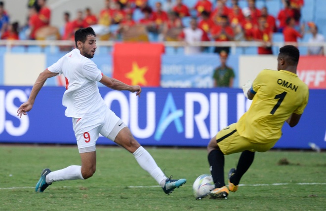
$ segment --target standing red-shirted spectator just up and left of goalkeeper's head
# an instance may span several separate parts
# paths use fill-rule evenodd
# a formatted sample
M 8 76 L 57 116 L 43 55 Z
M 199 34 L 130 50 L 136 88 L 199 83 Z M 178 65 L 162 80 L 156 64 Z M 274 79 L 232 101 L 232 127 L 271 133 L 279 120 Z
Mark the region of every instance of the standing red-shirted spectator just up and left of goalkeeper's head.
M 266 17 L 260 16 L 258 19 L 258 27 L 253 30 L 253 40 L 263 43 L 263 46 L 258 47 L 258 54 L 273 54 L 271 47 L 273 32 L 266 26 L 266 23 Z

